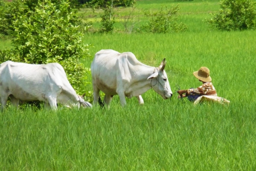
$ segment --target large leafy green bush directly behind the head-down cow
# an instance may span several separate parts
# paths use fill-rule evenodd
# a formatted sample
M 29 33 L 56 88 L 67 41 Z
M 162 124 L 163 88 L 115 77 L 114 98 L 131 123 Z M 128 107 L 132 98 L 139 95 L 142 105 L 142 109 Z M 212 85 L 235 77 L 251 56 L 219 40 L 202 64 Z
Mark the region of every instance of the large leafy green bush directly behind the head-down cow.
M 61 1 L 59 9 L 49 0 L 38 3 L 29 16 L 20 15 L 13 22 L 14 49 L 0 51 L 0 62 L 46 64 L 60 63 L 70 84 L 78 94 L 84 93 L 87 71 L 79 59 L 90 56 L 88 45 L 82 44 L 79 26 L 73 25 L 76 11 L 69 11 L 69 3 Z

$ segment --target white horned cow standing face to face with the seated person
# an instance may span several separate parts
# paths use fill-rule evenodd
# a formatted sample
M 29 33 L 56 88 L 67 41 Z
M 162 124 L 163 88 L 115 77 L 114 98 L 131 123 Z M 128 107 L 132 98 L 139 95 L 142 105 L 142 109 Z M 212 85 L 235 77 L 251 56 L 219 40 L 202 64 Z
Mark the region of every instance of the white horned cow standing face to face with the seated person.
M 93 103 L 100 101 L 100 90 L 105 93 L 106 105 L 110 104 L 113 95 L 116 94 L 119 95 L 122 106 L 126 105 L 125 97 L 134 96 L 143 104 L 140 95 L 151 87 L 163 99 L 172 97 L 172 90 L 164 71 L 165 66 L 165 59 L 159 67 L 151 67 L 140 63 L 131 52 L 120 54 L 110 49 L 97 52 L 91 64 Z

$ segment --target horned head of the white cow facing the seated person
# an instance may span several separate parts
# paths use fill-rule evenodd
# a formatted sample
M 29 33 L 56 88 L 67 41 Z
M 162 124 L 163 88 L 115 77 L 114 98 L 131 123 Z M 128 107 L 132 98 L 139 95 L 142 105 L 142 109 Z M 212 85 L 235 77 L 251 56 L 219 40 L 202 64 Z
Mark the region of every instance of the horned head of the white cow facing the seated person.
M 165 58 L 161 62 L 160 66 L 155 68 L 154 73 L 148 77 L 148 80 L 151 80 L 151 86 L 158 94 L 160 94 L 163 99 L 172 97 L 172 90 L 164 71 L 164 67 L 166 66 Z

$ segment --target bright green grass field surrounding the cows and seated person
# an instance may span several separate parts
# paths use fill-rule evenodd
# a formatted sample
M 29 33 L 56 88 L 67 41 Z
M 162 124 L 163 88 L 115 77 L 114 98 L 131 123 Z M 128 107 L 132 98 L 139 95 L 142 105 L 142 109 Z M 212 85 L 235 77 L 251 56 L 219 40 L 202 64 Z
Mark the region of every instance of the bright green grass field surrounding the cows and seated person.
M 177 4 L 140 0 L 137 10 L 169 2 Z M 83 41 L 95 46 L 92 56 L 108 48 L 131 51 L 150 66 L 166 57 L 173 92 L 177 84 L 201 85 L 192 72 L 207 66 L 218 96 L 230 105 L 194 106 L 149 90 L 143 106 L 132 98 L 121 108 L 115 96 L 108 110 L 8 108 L 0 113 L 0 170 L 256 170 L 256 31 L 209 31 L 202 20 L 217 11 L 216 0 L 183 2 L 186 32 L 85 34 Z M 9 46 L 1 40 L 0 48 Z

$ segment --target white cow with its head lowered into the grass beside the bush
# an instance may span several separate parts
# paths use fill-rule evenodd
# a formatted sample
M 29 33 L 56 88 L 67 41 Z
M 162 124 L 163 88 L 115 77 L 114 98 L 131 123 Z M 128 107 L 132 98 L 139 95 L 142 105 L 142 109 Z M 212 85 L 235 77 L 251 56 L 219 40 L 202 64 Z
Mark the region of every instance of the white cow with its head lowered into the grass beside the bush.
M 19 100 L 44 101 L 46 106 L 50 105 L 53 109 L 57 108 L 57 102 L 67 106 L 91 107 L 83 96 L 76 94 L 58 63 L 34 65 L 6 61 L 0 64 L 2 109 L 6 107 L 8 97 L 17 107 Z

